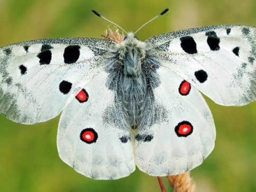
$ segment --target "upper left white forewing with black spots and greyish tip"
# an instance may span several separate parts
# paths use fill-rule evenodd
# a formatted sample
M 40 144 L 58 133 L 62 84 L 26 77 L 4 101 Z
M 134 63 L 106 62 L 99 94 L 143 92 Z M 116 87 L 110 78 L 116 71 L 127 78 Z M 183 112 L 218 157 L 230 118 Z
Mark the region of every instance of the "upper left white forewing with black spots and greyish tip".
M 63 38 L 0 48 L 0 112 L 23 124 L 57 116 L 98 73 L 109 43 Z

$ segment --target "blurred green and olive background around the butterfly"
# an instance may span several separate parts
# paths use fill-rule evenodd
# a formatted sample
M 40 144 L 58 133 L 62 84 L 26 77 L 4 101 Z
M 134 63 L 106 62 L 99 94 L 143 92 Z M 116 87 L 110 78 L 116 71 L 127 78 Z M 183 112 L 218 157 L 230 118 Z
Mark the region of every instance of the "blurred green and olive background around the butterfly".
M 100 38 L 110 24 L 92 9 L 135 31 L 166 7 L 166 15 L 136 34 L 140 40 L 204 25 L 256 25 L 255 0 L 0 0 L 0 46 L 42 38 Z M 256 191 L 256 102 L 224 107 L 206 100 L 217 138 L 214 151 L 191 171 L 198 191 Z M 110 181 L 77 173 L 58 156 L 58 120 L 21 125 L 0 115 L 0 191 L 160 191 L 157 178 L 138 169 Z

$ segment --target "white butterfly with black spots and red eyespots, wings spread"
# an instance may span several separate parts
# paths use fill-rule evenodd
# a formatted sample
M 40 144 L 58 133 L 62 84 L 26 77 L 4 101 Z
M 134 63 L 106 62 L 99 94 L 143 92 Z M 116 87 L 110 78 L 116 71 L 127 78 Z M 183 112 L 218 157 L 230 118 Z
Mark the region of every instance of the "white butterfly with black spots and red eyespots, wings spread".
M 62 112 L 59 156 L 87 177 L 123 178 L 135 166 L 177 175 L 214 148 L 214 120 L 200 92 L 226 106 L 256 99 L 255 41 L 253 26 L 215 25 L 145 42 L 130 32 L 6 45 L 0 112 L 22 124 Z

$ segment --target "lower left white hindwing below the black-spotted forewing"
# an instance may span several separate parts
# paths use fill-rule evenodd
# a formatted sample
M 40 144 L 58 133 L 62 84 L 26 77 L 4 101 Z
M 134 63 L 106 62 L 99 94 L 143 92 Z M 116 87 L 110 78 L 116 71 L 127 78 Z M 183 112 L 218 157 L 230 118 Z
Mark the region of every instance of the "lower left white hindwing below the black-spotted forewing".
M 57 135 L 60 158 L 94 179 L 118 179 L 135 170 L 129 128 L 107 78 L 100 72 L 82 92 L 88 100 L 74 98 L 63 110 Z

